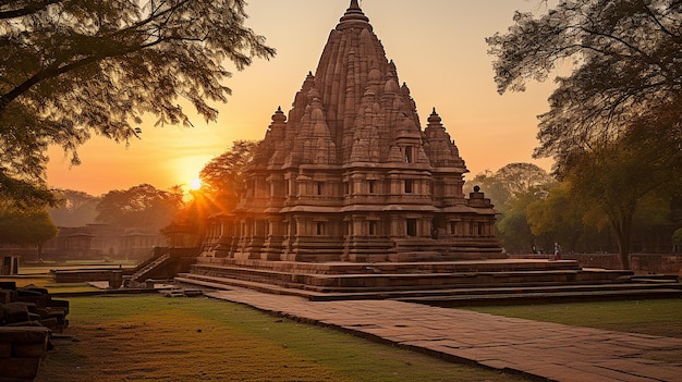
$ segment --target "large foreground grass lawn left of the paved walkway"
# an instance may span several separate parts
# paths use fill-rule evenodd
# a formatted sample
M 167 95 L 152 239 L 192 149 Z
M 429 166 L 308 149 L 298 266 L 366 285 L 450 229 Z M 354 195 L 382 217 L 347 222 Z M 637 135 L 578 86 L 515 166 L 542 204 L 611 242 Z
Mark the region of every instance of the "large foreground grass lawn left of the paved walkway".
M 70 297 L 36 382 L 523 381 L 209 298 Z

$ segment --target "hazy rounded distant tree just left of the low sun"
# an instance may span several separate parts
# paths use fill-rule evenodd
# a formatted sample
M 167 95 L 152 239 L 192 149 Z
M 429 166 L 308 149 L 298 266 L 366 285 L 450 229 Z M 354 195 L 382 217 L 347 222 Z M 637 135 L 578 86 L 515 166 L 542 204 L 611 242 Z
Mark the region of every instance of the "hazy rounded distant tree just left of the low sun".
M 171 222 L 183 204 L 182 197 L 180 186 L 160 190 L 149 184 L 141 184 L 125 190 L 114 189 L 101 197 L 96 220 L 157 231 Z

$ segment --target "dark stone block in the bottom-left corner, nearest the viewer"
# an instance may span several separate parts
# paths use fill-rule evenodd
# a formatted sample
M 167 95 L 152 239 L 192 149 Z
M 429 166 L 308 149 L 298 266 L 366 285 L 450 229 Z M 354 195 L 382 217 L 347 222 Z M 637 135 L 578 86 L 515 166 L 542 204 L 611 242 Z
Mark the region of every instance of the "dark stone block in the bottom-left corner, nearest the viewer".
M 0 326 L 0 382 L 35 380 L 49 335 L 42 326 Z

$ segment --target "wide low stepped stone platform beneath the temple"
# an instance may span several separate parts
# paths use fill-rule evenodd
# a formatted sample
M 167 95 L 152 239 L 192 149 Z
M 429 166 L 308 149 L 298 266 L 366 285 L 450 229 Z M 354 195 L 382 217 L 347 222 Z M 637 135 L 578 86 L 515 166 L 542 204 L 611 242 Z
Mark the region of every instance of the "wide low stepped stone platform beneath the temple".
M 199 258 L 175 282 L 310 300 L 391 298 L 439 306 L 682 297 L 677 278 L 640 278 L 631 271 L 541 259 L 308 263 Z

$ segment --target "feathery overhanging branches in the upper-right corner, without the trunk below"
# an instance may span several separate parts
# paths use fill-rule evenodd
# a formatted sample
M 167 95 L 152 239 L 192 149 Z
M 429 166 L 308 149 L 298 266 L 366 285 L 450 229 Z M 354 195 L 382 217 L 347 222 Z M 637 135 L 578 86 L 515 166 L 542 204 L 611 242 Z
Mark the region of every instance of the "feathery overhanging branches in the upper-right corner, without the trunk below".
M 561 170 L 574 149 L 608 145 L 633 125 L 679 131 L 681 11 L 679 0 L 562 1 L 537 19 L 516 12 L 508 34 L 487 38 L 500 94 L 572 60 L 539 116 L 535 156 L 553 156 Z

